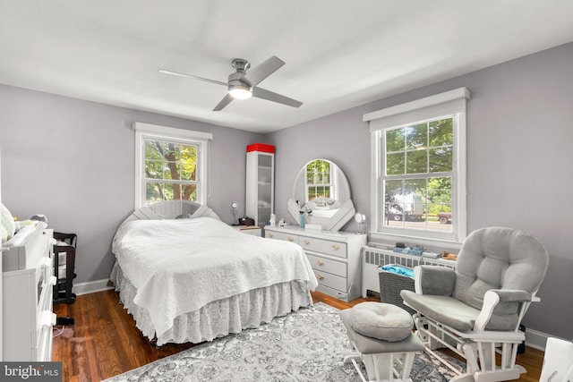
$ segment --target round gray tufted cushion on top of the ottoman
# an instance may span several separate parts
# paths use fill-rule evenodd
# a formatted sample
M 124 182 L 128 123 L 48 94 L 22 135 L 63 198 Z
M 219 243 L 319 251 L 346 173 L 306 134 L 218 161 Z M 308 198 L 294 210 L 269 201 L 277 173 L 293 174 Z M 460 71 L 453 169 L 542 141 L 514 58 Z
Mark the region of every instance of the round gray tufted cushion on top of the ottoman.
M 361 335 L 395 342 L 412 332 L 412 316 L 396 305 L 361 302 L 350 310 L 350 326 Z

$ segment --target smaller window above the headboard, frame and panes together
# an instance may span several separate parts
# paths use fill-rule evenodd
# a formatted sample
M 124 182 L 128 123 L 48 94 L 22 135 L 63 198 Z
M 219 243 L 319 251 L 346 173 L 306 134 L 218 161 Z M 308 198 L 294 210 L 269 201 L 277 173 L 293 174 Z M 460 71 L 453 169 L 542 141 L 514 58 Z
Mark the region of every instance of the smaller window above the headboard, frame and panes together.
M 134 123 L 135 208 L 160 200 L 207 202 L 210 133 Z

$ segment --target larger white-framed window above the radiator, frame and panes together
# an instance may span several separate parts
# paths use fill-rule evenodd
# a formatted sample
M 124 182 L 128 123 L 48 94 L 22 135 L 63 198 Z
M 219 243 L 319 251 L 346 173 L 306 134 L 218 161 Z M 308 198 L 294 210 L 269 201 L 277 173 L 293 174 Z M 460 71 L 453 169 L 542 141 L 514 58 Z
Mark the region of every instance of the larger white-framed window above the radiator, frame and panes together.
M 466 237 L 467 98 L 461 88 L 364 115 L 372 238 L 458 248 Z

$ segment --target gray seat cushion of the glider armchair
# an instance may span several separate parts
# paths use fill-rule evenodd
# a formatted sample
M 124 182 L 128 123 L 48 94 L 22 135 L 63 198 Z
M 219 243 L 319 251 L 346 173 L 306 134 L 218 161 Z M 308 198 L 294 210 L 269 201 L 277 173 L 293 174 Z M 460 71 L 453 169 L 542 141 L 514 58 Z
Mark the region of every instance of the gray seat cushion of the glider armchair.
M 479 310 L 450 296 L 417 294 L 406 290 L 400 292 L 400 296 L 423 316 L 433 318 L 460 332 L 471 330 L 474 327 L 475 318 L 480 314 Z

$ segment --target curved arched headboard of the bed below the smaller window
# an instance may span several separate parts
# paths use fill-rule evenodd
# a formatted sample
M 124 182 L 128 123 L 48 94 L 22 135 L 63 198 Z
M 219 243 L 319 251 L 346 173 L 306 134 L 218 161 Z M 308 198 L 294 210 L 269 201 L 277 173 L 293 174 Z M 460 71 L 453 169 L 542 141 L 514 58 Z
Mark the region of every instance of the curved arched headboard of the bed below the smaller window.
M 133 211 L 133 214 L 127 216 L 125 222 L 131 220 L 160 220 L 175 219 L 184 217 L 193 219 L 200 216 L 209 216 L 221 220 L 218 215 L 209 207 L 194 201 L 188 200 L 164 200 L 153 203 L 150 206 L 144 206 Z

